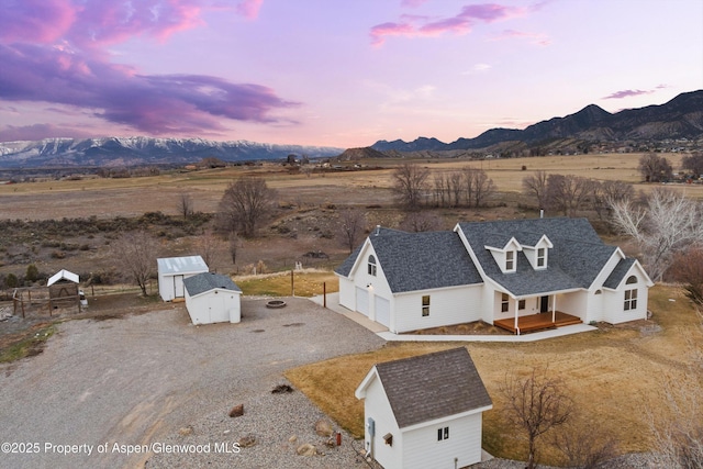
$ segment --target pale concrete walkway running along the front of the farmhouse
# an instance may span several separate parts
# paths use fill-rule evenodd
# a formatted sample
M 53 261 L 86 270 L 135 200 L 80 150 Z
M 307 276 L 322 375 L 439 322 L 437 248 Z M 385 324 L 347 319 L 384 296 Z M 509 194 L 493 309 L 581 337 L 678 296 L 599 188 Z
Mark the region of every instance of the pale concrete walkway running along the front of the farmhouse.
M 323 304 L 322 295 L 312 297 L 310 299 L 314 303 Z M 598 327 L 588 324 L 574 324 L 563 326 L 556 330 L 533 332 L 524 335 L 419 335 L 419 334 L 393 334 L 388 327 L 369 320 L 361 313 L 347 310 L 339 305 L 339 293 L 327 293 L 327 309 L 339 313 L 349 320 L 362 325 L 369 331 L 376 333 L 379 337 L 387 342 L 536 342 L 545 338 L 562 337 L 565 335 L 578 334 L 581 332 L 596 331 Z

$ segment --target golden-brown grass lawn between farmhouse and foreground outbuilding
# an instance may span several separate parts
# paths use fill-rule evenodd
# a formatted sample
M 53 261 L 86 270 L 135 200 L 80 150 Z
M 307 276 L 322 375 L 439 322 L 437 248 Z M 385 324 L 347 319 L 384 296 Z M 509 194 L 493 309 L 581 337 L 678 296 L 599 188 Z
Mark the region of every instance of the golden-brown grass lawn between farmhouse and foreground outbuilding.
M 662 391 L 685 373 L 691 340 L 703 339 L 695 312 L 679 288 L 652 288 L 649 309 L 651 321 L 604 325 L 537 343 L 391 343 L 376 351 L 294 368 L 286 376 L 339 425 L 361 437 L 364 405 L 354 390 L 373 364 L 466 346 L 493 400 L 493 410 L 483 415 L 483 447 L 489 453 L 524 460 L 524 442 L 501 422 L 499 386 L 507 373 L 526 376 L 532 367 L 547 367 L 563 379 L 582 418 L 612 434 L 621 453 L 646 451 L 651 437 L 648 413 L 676 417 L 663 405 Z M 544 464 L 558 462 L 548 449 L 542 456 Z

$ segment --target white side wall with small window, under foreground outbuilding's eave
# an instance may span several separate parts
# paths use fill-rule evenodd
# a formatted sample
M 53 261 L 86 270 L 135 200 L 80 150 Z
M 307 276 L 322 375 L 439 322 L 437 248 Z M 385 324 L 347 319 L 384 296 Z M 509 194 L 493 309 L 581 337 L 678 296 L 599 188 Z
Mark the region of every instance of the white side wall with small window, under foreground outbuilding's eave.
M 480 462 L 481 421 L 481 413 L 477 413 L 403 432 L 402 467 L 404 469 L 455 469 Z M 437 429 L 445 426 L 449 427 L 449 438 L 438 442 Z M 456 465 L 455 458 L 457 458 Z

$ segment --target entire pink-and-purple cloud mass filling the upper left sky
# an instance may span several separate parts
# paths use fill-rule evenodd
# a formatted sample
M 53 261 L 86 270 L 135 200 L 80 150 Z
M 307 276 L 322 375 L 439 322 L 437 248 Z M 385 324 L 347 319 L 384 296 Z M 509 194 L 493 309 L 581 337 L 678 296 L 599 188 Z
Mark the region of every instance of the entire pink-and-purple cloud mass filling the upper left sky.
M 224 8 L 219 0 L 23 0 L 0 15 L 0 100 L 45 102 L 149 134 L 225 130 L 223 119 L 278 122 L 271 114 L 299 103 L 265 86 L 202 75 L 140 74 L 111 64 L 108 45 L 136 36 L 165 41 L 203 24 L 204 10 L 256 18 L 263 0 Z M 287 121 L 287 123 L 290 123 Z M 5 127 L 24 135 L 51 126 Z

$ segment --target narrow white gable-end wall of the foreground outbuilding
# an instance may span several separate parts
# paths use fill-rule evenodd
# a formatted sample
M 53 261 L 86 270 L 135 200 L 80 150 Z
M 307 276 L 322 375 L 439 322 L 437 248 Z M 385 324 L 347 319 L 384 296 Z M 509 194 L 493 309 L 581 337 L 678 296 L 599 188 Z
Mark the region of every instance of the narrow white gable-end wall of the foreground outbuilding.
M 368 420 L 376 422 L 376 435 L 372 440 L 368 434 Z M 366 390 L 364 401 L 364 424 L 365 424 L 365 447 L 372 451 L 372 457 L 384 468 L 400 468 L 402 466 L 403 440 L 395 417 L 391 411 L 391 405 L 386 397 L 386 391 L 378 379 L 373 379 Z M 393 445 L 389 446 L 383 442 L 383 436 L 390 433 L 393 435 Z

